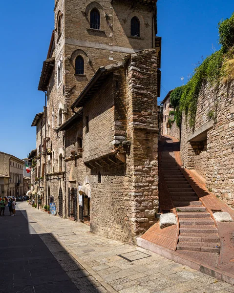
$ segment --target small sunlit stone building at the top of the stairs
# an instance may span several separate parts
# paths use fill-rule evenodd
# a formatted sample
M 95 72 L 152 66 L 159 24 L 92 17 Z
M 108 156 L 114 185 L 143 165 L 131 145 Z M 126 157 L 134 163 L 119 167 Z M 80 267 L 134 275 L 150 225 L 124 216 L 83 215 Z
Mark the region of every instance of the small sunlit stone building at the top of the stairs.
M 162 101 L 163 106 L 163 122 L 162 122 L 162 134 L 169 135 L 180 139 L 180 128 L 176 125 L 174 119 L 174 108 L 170 104 L 170 94 L 172 93 L 173 89 L 168 92 L 166 97 Z

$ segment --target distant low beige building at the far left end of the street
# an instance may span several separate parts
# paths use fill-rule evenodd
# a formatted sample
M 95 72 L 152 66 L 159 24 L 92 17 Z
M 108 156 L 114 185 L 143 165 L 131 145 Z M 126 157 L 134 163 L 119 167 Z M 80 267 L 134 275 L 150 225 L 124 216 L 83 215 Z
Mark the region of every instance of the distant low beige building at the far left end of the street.
M 15 197 L 23 195 L 23 167 L 24 162 L 21 159 L 0 152 L 0 174 L 6 176 L 4 177 L 4 189 L 1 189 L 1 193 L 4 191 L 4 195 Z M 9 179 L 9 182 L 6 178 Z

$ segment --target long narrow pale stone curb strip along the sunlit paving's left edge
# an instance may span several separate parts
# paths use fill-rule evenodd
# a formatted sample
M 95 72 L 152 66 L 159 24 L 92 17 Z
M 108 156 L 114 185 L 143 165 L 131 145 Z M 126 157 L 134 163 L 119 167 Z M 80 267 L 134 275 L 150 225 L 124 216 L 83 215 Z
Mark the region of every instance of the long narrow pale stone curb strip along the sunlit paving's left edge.
M 22 211 L 22 209 L 19 207 L 19 209 Z M 23 213 L 22 213 L 23 214 Z M 25 217 L 25 215 L 23 214 Z M 67 251 L 87 272 L 89 272 L 109 293 L 118 293 L 113 287 L 111 287 L 106 281 L 100 277 L 100 275 L 95 272 L 93 269 L 91 269 L 82 259 L 80 259 L 75 253 L 70 251 L 66 246 L 63 245 L 63 243 L 51 232 L 49 232 L 41 223 L 39 223 L 32 215 L 30 215 L 48 234 L 50 234 L 63 248 L 65 251 Z M 25 217 L 26 218 L 26 217 Z M 30 224 L 30 223 L 29 223 Z M 40 235 L 39 235 L 40 236 Z M 40 236 L 41 238 L 41 236 Z M 43 240 L 43 238 L 41 238 Z M 44 242 L 44 241 L 43 241 Z M 46 245 L 46 244 L 45 244 Z

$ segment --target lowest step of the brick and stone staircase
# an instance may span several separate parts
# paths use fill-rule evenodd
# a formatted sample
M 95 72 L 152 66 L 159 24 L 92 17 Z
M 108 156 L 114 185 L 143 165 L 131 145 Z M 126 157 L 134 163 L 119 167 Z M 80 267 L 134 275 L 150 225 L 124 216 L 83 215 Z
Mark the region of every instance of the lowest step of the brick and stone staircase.
M 186 250 L 186 251 L 215 252 L 215 253 L 220 252 L 220 249 L 216 247 L 218 243 L 209 243 L 212 246 L 202 246 L 203 244 L 204 243 L 201 243 L 201 245 L 200 245 L 198 242 L 179 242 L 177 244 L 176 249 L 177 250 Z

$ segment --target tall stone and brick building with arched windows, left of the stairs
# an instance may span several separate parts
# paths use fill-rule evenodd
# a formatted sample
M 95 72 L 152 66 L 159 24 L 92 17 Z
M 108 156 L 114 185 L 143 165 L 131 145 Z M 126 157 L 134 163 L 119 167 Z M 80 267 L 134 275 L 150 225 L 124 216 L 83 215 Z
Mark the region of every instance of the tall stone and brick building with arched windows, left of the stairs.
M 43 203 L 134 242 L 158 207 L 156 0 L 57 0 L 54 12 L 39 83 L 47 100 Z

